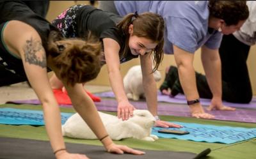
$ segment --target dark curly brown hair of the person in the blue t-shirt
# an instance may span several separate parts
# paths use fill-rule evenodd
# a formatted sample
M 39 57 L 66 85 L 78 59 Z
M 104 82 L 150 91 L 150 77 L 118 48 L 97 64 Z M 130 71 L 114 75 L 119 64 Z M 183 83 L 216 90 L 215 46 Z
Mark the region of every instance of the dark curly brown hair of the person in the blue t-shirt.
M 210 16 L 223 19 L 227 26 L 237 25 L 239 21 L 246 20 L 249 17 L 246 1 L 218 1 L 210 0 Z

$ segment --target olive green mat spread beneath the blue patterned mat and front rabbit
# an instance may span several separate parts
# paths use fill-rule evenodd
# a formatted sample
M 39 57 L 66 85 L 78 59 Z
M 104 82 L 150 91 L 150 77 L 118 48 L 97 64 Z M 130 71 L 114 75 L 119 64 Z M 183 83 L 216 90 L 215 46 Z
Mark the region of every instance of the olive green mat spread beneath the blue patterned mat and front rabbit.
M 42 110 L 42 107 L 35 107 L 35 105 L 13 105 L 4 104 L 0 107 L 12 107 L 16 109 L 31 109 Z M 72 108 L 61 108 L 61 112 L 75 112 Z M 107 112 L 109 114 L 115 114 L 114 112 Z M 228 121 L 216 121 L 207 119 L 196 119 L 192 117 L 175 117 L 175 116 L 161 116 L 164 121 L 180 121 L 184 123 L 199 123 L 209 125 L 220 126 L 234 126 L 243 128 L 255 128 L 256 125 L 252 123 L 239 123 Z M 22 139 L 37 139 L 48 140 L 47 133 L 44 126 L 12 126 L 12 125 L 0 125 L 0 137 L 16 137 Z M 92 144 L 102 145 L 99 140 L 81 140 L 70 139 L 65 137 L 65 142 L 80 143 L 80 144 Z M 211 148 L 211 153 L 207 159 L 243 159 L 243 158 L 255 158 L 256 156 L 256 139 L 250 139 L 246 142 L 237 142 L 236 144 L 217 144 L 207 142 L 193 142 L 190 140 L 179 139 L 159 139 L 156 142 L 147 142 L 136 139 L 125 139 L 115 141 L 116 144 L 125 144 L 131 148 L 140 149 L 152 149 L 161 151 L 187 151 L 191 153 L 200 153 L 205 148 Z M 1 150 L 0 150 L 1 151 Z

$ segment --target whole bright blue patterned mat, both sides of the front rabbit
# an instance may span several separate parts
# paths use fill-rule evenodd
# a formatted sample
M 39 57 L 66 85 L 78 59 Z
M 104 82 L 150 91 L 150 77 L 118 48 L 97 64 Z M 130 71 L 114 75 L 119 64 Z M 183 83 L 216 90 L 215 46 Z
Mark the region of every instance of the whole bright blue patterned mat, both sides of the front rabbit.
M 61 123 L 64 124 L 72 113 L 61 113 Z M 175 138 L 182 140 L 193 140 L 197 142 L 219 142 L 223 144 L 232 144 L 242 140 L 248 140 L 256 137 L 256 128 L 237 128 L 230 126 L 214 126 L 200 125 L 194 123 L 172 122 L 183 125 L 185 130 L 190 132 L 189 135 L 172 135 L 157 133 L 161 128 L 152 128 L 152 134 L 158 137 Z M 40 110 L 24 110 L 1 108 L 0 109 L 0 124 L 6 125 L 45 125 L 43 112 Z M 170 128 L 177 129 L 177 128 Z

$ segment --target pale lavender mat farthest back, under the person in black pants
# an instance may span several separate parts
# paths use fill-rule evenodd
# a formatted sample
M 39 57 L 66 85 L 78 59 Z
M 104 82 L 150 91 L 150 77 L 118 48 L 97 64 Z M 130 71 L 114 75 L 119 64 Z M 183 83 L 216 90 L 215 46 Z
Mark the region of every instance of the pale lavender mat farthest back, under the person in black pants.
M 112 91 L 109 92 L 103 92 L 103 93 L 95 93 L 96 96 L 105 97 L 105 98 L 115 98 L 115 95 Z M 186 98 L 184 95 L 177 95 L 174 98 L 171 98 L 167 95 L 162 95 L 159 91 L 157 93 L 157 100 L 158 102 L 167 102 L 167 103 L 179 103 L 179 104 L 186 104 Z M 211 103 L 211 100 L 200 98 L 200 103 L 205 106 L 209 106 Z M 252 102 L 248 104 L 241 104 L 241 103 L 230 103 L 223 101 L 223 104 L 229 107 L 235 107 L 235 108 L 250 108 L 250 109 L 256 109 L 256 98 L 252 99 Z

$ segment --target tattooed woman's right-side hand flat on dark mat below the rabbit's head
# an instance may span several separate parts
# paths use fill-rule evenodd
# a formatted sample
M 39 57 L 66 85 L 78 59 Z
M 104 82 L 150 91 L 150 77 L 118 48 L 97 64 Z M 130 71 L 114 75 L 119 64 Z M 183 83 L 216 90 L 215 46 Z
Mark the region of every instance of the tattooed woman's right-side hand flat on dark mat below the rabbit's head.
M 114 143 L 107 146 L 106 149 L 109 153 L 117 153 L 117 154 L 131 153 L 134 155 L 144 155 L 145 154 L 145 152 L 143 152 L 143 151 L 132 149 L 132 148 L 129 148 L 128 146 L 124 146 L 124 145 L 117 145 Z

